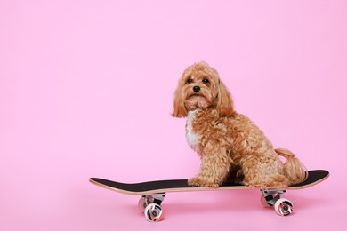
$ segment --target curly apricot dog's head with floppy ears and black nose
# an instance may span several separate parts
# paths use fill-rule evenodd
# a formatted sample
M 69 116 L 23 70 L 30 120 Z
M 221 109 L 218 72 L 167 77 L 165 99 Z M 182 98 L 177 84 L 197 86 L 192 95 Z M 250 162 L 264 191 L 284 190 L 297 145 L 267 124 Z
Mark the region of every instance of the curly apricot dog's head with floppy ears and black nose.
M 220 116 L 234 113 L 230 92 L 217 71 L 206 62 L 186 68 L 179 80 L 173 100 L 173 116 L 186 117 L 197 108 L 216 108 Z

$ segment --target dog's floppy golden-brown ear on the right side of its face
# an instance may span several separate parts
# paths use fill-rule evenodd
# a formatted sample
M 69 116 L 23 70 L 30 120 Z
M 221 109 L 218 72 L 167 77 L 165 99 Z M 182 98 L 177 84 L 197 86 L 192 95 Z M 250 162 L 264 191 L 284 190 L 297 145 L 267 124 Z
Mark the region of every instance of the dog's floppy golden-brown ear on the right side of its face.
M 220 116 L 231 116 L 234 113 L 234 101 L 231 99 L 227 87 L 219 80 L 217 111 Z

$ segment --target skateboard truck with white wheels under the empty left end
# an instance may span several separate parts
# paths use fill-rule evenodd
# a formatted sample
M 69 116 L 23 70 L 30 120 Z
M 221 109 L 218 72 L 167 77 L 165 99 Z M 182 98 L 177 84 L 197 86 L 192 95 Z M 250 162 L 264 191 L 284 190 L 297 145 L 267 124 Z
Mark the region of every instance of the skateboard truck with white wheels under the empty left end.
M 139 209 L 144 212 L 146 219 L 149 221 L 159 221 L 163 215 L 160 204 L 164 199 L 165 193 L 142 195 L 139 201 Z

